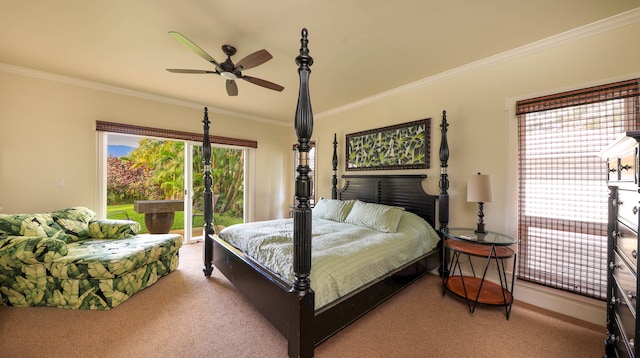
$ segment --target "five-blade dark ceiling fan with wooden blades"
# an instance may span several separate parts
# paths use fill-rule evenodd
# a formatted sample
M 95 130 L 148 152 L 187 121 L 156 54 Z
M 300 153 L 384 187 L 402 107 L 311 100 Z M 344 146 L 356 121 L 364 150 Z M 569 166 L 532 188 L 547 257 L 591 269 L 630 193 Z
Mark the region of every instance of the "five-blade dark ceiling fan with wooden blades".
M 236 48 L 231 45 L 222 45 L 222 51 L 227 55 L 227 59 L 224 62 L 218 63 L 213 57 L 209 56 L 208 53 L 204 52 L 198 45 L 193 43 L 191 40 L 180 34 L 176 31 L 169 31 L 169 35 L 171 35 L 174 39 L 178 40 L 182 45 L 184 45 L 189 50 L 196 53 L 196 55 L 204 58 L 205 60 L 212 63 L 216 66 L 215 70 L 186 70 L 186 69 L 178 69 L 178 68 L 167 68 L 167 71 L 173 73 L 191 73 L 191 74 L 216 74 L 224 77 L 227 80 L 227 94 L 229 96 L 237 96 L 238 95 L 238 85 L 236 84 L 237 79 L 243 79 L 247 82 L 253 83 L 258 86 L 262 86 L 264 88 L 268 88 L 274 91 L 282 91 L 284 87 L 275 84 L 273 82 L 269 82 L 263 80 L 261 78 L 245 76 L 242 74 L 242 71 L 248 70 L 250 68 L 261 65 L 270 59 L 273 58 L 271 54 L 265 50 L 256 51 L 245 58 L 238 61 L 237 64 L 234 64 L 231 61 L 231 56 L 236 54 Z

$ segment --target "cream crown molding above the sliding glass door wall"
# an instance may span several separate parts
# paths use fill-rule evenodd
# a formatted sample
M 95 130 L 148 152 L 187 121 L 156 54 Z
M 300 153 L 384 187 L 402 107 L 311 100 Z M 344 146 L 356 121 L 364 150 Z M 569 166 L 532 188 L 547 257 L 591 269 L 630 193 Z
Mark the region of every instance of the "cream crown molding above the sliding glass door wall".
M 69 77 L 69 76 L 58 75 L 50 72 L 38 71 L 31 68 L 20 67 L 20 66 L 10 65 L 7 63 L 1 63 L 1 62 L 0 62 L 0 72 L 7 72 L 7 73 L 20 75 L 20 76 L 39 78 L 46 81 L 58 82 L 58 83 L 63 83 L 71 86 L 84 87 L 84 88 L 89 88 L 97 91 L 110 92 L 110 93 L 115 93 L 123 96 L 136 97 L 136 98 L 146 99 L 146 100 L 160 102 L 160 103 L 166 103 L 166 104 L 171 104 L 171 105 L 176 105 L 176 106 L 181 106 L 186 108 L 193 108 L 197 110 L 201 110 L 203 107 L 205 107 L 201 104 L 194 103 L 194 102 L 178 100 L 170 97 L 158 96 L 158 95 L 154 95 L 146 92 L 135 91 L 135 90 L 117 87 L 117 86 L 111 86 L 111 85 L 107 85 L 100 82 L 82 80 L 75 77 Z M 220 115 L 243 118 L 243 119 L 248 119 L 256 122 L 262 122 L 262 123 L 283 126 L 283 127 L 290 126 L 289 123 L 283 123 L 280 121 L 275 121 L 273 119 L 263 118 L 259 116 L 252 116 L 246 113 L 229 111 L 221 108 L 216 108 L 210 105 L 206 107 L 209 109 L 209 113 L 217 113 Z

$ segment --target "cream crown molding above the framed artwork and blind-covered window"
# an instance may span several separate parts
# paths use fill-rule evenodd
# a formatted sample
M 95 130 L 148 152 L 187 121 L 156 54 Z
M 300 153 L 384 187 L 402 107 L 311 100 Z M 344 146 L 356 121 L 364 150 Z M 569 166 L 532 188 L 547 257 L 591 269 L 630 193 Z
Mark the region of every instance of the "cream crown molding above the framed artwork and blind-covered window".
M 603 32 L 611 31 L 629 24 L 633 24 L 640 21 L 640 7 L 633 10 L 629 10 L 606 19 L 602 19 L 591 24 L 577 27 L 575 29 L 562 32 L 545 39 L 529 43 L 520 47 L 516 47 L 509 51 L 499 53 L 484 59 L 471 62 L 448 71 L 438 73 L 436 75 L 411 82 L 401 87 L 394 88 L 389 91 L 373 95 L 371 97 L 363 98 L 359 101 L 349 103 L 347 105 L 337 107 L 319 114 L 316 114 L 315 118 L 323 118 L 332 116 L 338 113 L 347 112 L 355 108 L 363 107 L 371 103 L 379 102 L 384 99 L 398 96 L 400 94 L 413 91 L 415 89 L 432 85 L 437 82 L 444 81 L 453 77 L 457 77 L 468 72 L 477 71 L 484 67 L 493 66 L 501 62 L 510 61 L 520 57 L 524 57 L 539 51 L 550 49 L 556 46 L 564 45 L 570 42 L 578 41 L 583 38 L 591 37 Z

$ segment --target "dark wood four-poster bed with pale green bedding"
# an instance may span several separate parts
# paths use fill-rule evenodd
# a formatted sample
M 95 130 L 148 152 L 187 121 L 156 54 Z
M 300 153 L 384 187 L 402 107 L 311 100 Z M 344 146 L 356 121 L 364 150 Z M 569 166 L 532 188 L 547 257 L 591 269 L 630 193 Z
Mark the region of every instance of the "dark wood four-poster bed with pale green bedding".
M 307 44 L 307 30 L 303 29 L 300 55 L 296 58 L 300 91 L 295 131 L 298 136 L 300 166 L 297 168 L 295 185 L 298 204 L 293 208 L 293 219 L 234 225 L 216 235 L 213 229 L 210 174 L 210 122 L 206 108 L 203 120 L 204 274 L 210 276 L 214 266 L 220 270 L 287 338 L 291 357 L 313 356 L 314 347 L 340 329 L 424 274 L 446 267 L 441 265 L 445 258 L 442 255 L 442 238 L 434 230 L 445 228 L 448 223 L 449 181 L 446 169 L 449 153 L 445 112 L 441 124 L 439 195 L 429 195 L 423 190 L 422 182 L 426 175 L 344 175 L 342 178 L 345 185 L 338 189 L 337 141 L 334 136 L 332 198 L 319 200 L 313 210 L 310 207 L 307 155 L 313 117 L 308 80 L 313 59 L 309 56 Z M 360 210 L 363 208 L 366 210 Z M 357 216 L 350 220 L 354 217 L 354 212 L 360 213 L 360 221 L 356 220 Z M 379 215 L 381 220 L 370 220 L 371 215 Z M 436 221 L 436 216 L 439 221 Z M 359 225 L 368 227 L 361 228 Z M 242 236 L 240 228 L 249 229 L 252 232 L 251 240 L 254 241 L 237 242 L 237 237 Z M 277 234 L 278 230 L 288 231 L 289 238 Z M 332 236 L 342 234 L 343 231 L 354 233 L 347 238 Z M 325 234 L 329 239 L 323 241 Z M 348 252 L 353 251 L 353 247 L 358 246 L 356 242 L 362 235 L 373 235 L 360 240 L 374 242 L 375 247 L 368 246 L 365 251 L 377 251 L 383 255 L 402 252 L 400 256 L 404 256 L 401 258 L 403 261 L 389 264 L 387 261 L 391 259 L 387 255 L 382 261 L 372 264 L 374 261 L 369 261 L 366 257 L 356 259 L 353 255 L 359 255 L 358 253 L 349 253 L 347 256 Z M 409 246 L 393 246 L 401 245 L 405 235 L 407 242 L 411 242 Z M 258 236 L 266 236 L 267 241 L 255 241 Z M 409 239 L 409 236 L 416 238 Z M 431 241 L 428 237 L 431 237 Z M 281 258 L 270 260 L 275 254 L 269 252 L 267 258 L 258 259 L 257 247 L 272 247 L 275 252 L 288 251 L 292 258 L 288 261 Z M 374 256 L 379 256 L 378 254 Z M 338 258 L 337 261 L 354 263 L 347 266 L 357 266 L 355 262 L 358 262 L 360 271 L 338 271 L 340 265 L 336 264 L 336 260 L 323 263 L 319 258 L 323 255 L 329 259 Z M 312 270 L 312 261 L 315 270 Z M 385 265 L 387 267 L 381 268 Z M 376 277 L 364 278 L 363 275 L 367 272 L 377 269 L 380 272 L 375 273 Z M 328 276 L 333 281 L 323 284 L 325 279 L 321 278 L 320 272 L 329 272 Z M 349 281 L 350 287 L 338 287 L 346 281 Z M 353 285 L 357 287 L 354 288 Z M 336 287 L 338 288 L 332 290 Z M 325 291 L 335 291 L 335 294 L 327 294 Z

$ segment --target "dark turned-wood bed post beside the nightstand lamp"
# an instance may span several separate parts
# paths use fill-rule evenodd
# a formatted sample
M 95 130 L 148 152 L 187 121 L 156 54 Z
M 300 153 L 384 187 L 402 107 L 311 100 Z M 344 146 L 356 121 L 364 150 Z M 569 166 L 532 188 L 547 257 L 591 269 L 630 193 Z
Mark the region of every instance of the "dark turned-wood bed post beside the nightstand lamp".
M 438 218 L 440 219 L 440 230 L 445 230 L 449 223 L 449 175 L 447 167 L 449 166 L 449 143 L 447 142 L 447 111 L 442 111 L 442 123 L 440 129 L 442 131 L 442 140 L 440 141 L 440 195 L 438 197 Z M 442 236 L 442 234 L 440 234 Z M 448 256 L 444 248 L 443 241 L 440 241 L 440 250 L 442 250 L 442 264 L 440 265 L 440 276 L 447 277 Z

